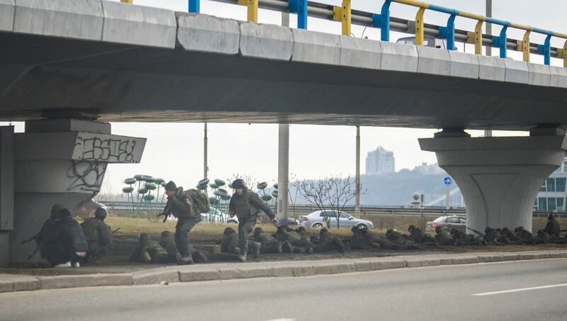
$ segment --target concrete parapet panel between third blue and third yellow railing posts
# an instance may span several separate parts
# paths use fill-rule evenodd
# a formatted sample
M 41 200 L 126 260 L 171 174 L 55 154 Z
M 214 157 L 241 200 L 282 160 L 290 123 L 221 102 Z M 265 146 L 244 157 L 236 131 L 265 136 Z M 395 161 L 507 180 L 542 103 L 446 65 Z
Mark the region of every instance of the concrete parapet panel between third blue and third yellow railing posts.
M 381 43 L 382 64 L 380 69 L 398 72 L 417 72 L 417 48 L 415 45 Z

